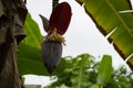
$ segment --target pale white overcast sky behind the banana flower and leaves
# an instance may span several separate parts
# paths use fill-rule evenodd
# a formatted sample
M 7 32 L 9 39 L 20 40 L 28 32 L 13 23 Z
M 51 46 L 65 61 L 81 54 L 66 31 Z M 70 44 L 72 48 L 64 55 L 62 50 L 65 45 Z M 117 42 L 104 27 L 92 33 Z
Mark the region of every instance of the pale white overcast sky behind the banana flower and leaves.
M 89 53 L 100 59 L 104 54 L 108 54 L 113 57 L 114 67 L 125 65 L 113 46 L 109 44 L 106 38 L 96 29 L 93 21 L 84 12 L 84 9 L 74 0 L 60 0 L 60 2 L 62 1 L 69 2 L 72 8 L 72 20 L 64 34 L 66 45 L 63 47 L 62 56 L 76 56 Z M 49 19 L 52 11 L 52 0 L 27 0 L 27 8 L 32 18 L 38 22 L 41 33 L 45 35 L 39 14 Z M 39 80 L 42 82 L 42 79 Z M 30 84 L 32 81 L 30 81 L 29 78 L 25 82 Z

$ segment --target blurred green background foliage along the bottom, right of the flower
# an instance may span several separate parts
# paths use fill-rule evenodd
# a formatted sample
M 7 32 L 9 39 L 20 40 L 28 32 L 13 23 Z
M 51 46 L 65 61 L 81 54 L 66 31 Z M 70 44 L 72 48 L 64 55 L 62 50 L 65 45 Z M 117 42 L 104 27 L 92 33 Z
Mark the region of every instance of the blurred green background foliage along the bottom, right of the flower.
M 133 88 L 133 73 L 124 66 L 113 70 L 111 56 L 94 59 L 89 54 L 62 58 L 65 66 L 53 77 L 58 80 L 44 88 Z

